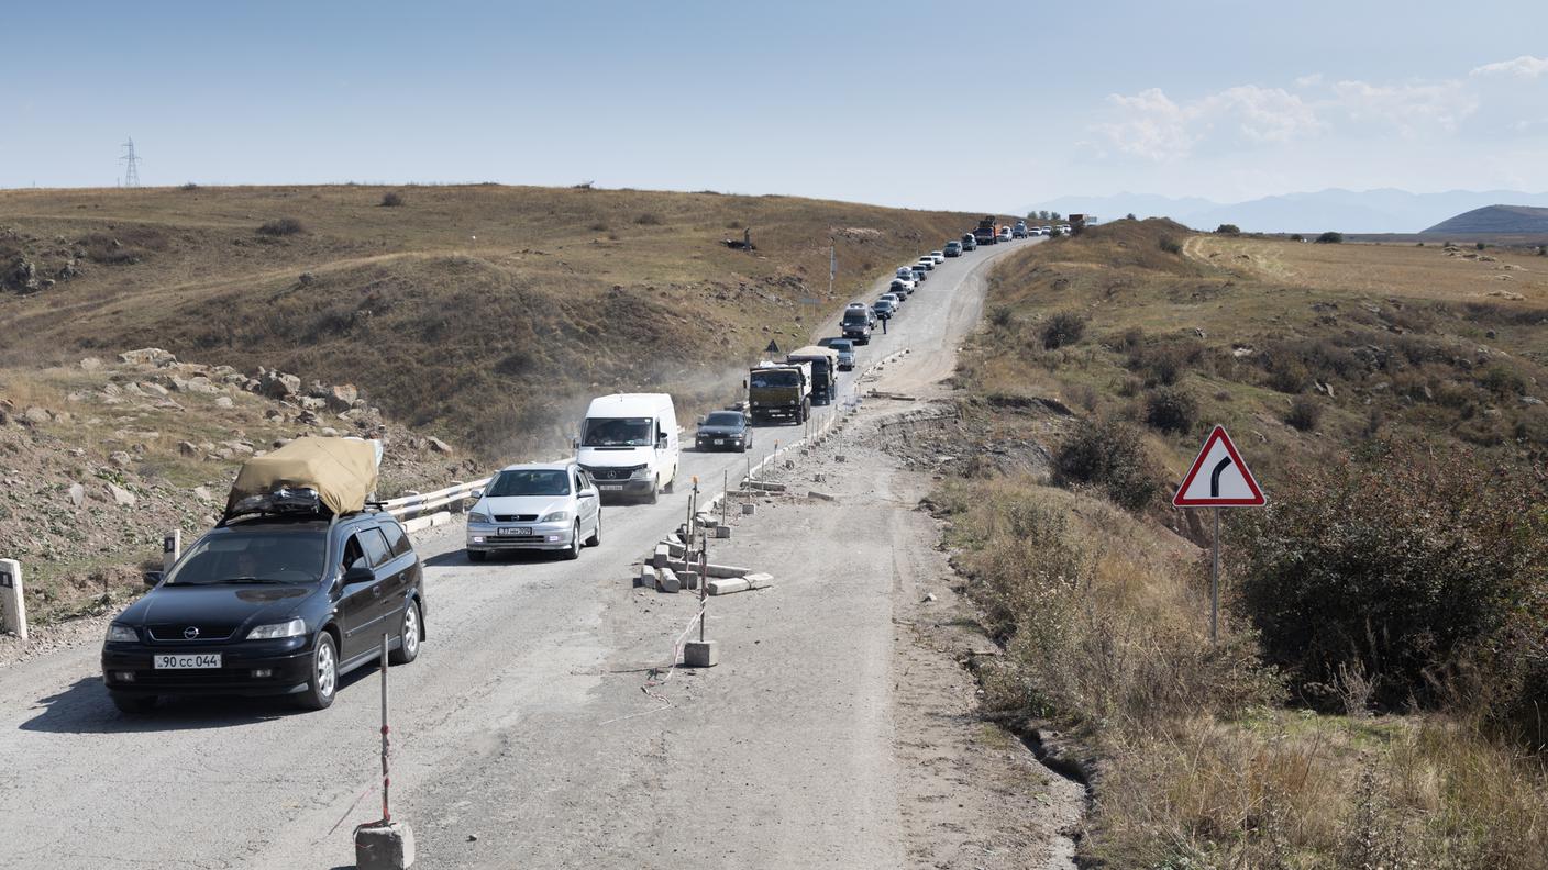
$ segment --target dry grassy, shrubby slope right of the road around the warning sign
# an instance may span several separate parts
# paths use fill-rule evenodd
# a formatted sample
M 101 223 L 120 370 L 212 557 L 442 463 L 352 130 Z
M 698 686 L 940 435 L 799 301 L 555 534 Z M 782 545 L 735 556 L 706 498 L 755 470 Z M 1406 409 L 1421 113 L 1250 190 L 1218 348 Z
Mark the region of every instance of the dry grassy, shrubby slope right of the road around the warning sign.
M 1540 868 L 1548 265 L 1115 221 L 1008 259 L 933 497 L 1093 865 Z M 1224 423 L 1269 497 L 1167 502 Z

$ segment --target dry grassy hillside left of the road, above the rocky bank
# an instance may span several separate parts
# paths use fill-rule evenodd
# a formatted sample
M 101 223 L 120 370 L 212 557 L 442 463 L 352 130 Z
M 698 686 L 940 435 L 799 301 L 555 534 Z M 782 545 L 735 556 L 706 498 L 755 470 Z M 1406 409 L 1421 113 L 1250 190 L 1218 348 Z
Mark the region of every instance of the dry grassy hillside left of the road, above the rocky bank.
M 971 223 L 492 184 L 6 190 L 0 320 L 20 339 L 0 364 L 153 345 L 279 367 L 358 384 L 390 418 L 509 455 L 562 441 L 596 393 L 723 401 L 769 339 L 805 344 L 807 324 Z M 745 228 L 755 252 L 723 245 Z

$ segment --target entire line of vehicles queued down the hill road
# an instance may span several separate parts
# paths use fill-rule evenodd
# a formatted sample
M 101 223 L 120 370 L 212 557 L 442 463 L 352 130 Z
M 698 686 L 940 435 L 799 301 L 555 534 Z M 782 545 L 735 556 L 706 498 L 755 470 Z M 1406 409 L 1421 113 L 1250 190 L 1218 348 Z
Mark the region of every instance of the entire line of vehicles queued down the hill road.
M 995 241 L 1015 232 L 995 228 Z M 836 401 L 856 347 L 977 237 L 898 268 L 887 293 L 844 311 L 842 334 L 751 367 L 745 399 L 703 416 L 694 447 L 751 450 L 757 426 L 799 426 Z M 655 503 L 670 492 L 683 449 L 672 396 L 593 399 L 573 447 L 570 460 L 506 466 L 472 494 L 471 562 L 509 551 L 579 559 L 602 543 L 604 497 Z M 424 568 L 402 525 L 373 502 L 379 464 L 381 444 L 359 438 L 299 438 L 248 460 L 215 528 L 166 571 L 146 573 L 150 591 L 108 625 L 101 663 L 111 701 L 142 714 L 161 697 L 280 695 L 324 709 L 345 673 L 384 650 L 390 664 L 418 658 Z

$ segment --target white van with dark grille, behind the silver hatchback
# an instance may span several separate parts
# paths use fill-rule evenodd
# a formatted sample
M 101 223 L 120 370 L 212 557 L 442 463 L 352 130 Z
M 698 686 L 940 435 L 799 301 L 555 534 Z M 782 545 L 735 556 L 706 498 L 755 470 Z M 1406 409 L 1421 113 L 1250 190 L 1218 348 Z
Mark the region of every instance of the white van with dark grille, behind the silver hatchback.
M 666 393 L 616 393 L 591 399 L 576 438 L 576 461 L 602 495 L 655 503 L 670 492 L 681 446 L 676 409 Z

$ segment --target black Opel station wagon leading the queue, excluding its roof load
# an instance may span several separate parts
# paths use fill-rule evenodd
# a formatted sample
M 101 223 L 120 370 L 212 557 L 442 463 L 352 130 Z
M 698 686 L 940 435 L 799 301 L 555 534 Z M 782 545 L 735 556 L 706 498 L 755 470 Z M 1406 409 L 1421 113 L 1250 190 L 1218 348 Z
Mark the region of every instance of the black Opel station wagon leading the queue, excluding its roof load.
M 102 678 L 124 712 L 159 695 L 289 695 L 333 703 L 344 673 L 381 656 L 413 661 L 424 585 L 413 545 L 387 514 L 223 522 L 147 574 L 156 588 L 108 625 Z

